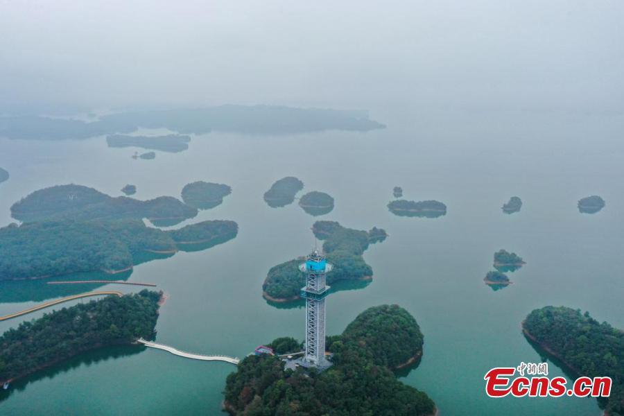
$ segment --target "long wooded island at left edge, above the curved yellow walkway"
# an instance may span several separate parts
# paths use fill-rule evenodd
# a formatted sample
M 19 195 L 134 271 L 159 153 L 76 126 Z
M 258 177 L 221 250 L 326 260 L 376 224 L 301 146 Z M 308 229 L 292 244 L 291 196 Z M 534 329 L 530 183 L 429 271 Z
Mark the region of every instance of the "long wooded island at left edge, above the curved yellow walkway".
M 204 221 L 163 231 L 142 220 L 44 220 L 0 228 L 0 280 L 77 272 L 115 274 L 177 250 L 203 250 L 233 239 L 234 221 Z

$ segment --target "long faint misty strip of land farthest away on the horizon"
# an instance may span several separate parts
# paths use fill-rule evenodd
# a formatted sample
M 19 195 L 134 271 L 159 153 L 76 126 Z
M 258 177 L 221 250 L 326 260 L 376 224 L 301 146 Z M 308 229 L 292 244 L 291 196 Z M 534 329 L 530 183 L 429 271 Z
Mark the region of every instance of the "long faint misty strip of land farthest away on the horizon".
M 0 116 L 0 136 L 8 139 L 63 140 L 128 134 L 138 128 L 166 128 L 181 134 L 211 131 L 266 135 L 368 131 L 385 128 L 365 111 L 295 108 L 279 105 L 220 105 L 218 107 L 121 112 L 85 122 L 46 116 Z

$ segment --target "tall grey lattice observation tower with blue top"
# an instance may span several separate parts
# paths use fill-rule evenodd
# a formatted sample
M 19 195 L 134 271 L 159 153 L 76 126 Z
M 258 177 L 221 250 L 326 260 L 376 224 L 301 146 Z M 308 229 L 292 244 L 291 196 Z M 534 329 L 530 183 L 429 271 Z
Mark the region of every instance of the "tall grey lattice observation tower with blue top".
M 329 293 L 325 275 L 331 268 L 317 250 L 299 266 L 306 274 L 306 286 L 301 288 L 300 294 L 306 300 L 306 353 L 299 362 L 303 367 L 324 370 L 331 365 L 325 358 L 325 297 Z

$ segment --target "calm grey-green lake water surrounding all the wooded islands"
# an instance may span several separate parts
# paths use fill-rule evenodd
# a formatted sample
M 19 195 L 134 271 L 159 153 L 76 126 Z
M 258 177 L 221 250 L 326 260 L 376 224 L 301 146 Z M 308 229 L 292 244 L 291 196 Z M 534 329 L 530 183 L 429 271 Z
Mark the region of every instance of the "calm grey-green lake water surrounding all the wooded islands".
M 261 297 L 261 284 L 271 266 L 313 248 L 316 219 L 356 229 L 383 227 L 388 239 L 365 252 L 373 281 L 328 297 L 329 334 L 343 331 L 369 306 L 397 303 L 415 316 L 425 337 L 422 363 L 401 379 L 427 392 L 442 416 L 600 415 L 594 399 L 490 399 L 483 375 L 492 367 L 539 361 L 520 331 L 532 309 L 571 306 L 624 328 L 622 117 L 372 115 L 388 128 L 288 136 L 213 132 L 194 136 L 185 152 L 157 152 L 154 160 L 132 159 L 132 148 L 107 148 L 103 137 L 0 139 L 0 166 L 11 175 L 0 184 L 0 225 L 10 223 L 13 202 L 54 184 L 84 184 L 119 196 L 130 183 L 141 199 L 179 197 L 184 184 L 196 180 L 229 184 L 232 195 L 223 205 L 186 223 L 235 220 L 236 239 L 141 264 L 129 281 L 153 282 L 168 294 L 157 342 L 239 357 L 278 336 L 304 337 L 304 309 L 271 306 Z M 335 209 L 315 218 L 296 201 L 268 207 L 263 193 L 286 175 L 299 177 L 304 192 L 329 193 Z M 403 187 L 408 200 L 446 203 L 447 215 L 393 216 L 386 205 L 395 186 Z M 593 194 L 605 199 L 605 209 L 580 214 L 577 200 Z M 503 214 L 501 206 L 514 195 L 523 200 L 521 211 Z M 495 292 L 483 277 L 500 248 L 517 252 L 527 264 L 510 273 L 514 284 Z M 48 294 L 44 286 L 3 284 L 0 315 L 62 295 Z M 42 313 L 0 322 L 0 331 Z M 0 392 L 0 413 L 218 415 L 233 370 L 227 363 L 155 349 L 102 349 Z M 550 370 L 551 376 L 562 374 L 555 365 Z

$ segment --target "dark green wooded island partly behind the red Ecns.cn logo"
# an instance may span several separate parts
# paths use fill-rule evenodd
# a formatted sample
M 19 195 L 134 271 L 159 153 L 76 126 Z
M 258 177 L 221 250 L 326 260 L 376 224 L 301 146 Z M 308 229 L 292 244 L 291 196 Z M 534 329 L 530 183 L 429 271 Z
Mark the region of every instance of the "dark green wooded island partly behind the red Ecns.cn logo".
M 598 403 L 605 415 L 624 415 L 624 331 L 564 306 L 535 309 L 522 322 L 522 330 L 574 376 L 611 377 L 611 397 Z

